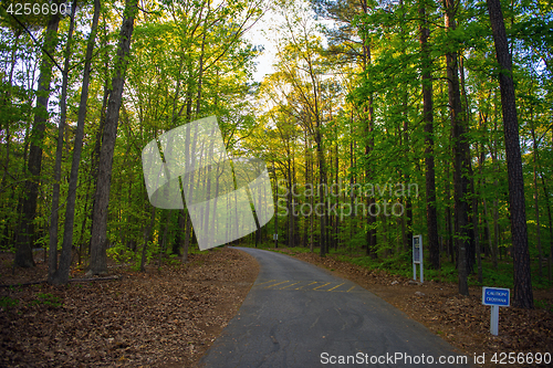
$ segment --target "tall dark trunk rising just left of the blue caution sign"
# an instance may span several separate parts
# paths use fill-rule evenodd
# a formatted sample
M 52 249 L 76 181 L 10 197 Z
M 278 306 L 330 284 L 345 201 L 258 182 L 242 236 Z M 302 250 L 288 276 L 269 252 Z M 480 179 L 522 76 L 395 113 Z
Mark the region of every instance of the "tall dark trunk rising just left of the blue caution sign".
M 455 0 L 444 0 L 446 11 L 446 28 L 453 32 L 457 28 L 455 17 L 457 13 L 457 2 Z M 459 90 L 459 67 L 457 64 L 457 52 L 448 52 L 447 78 L 449 107 L 451 114 L 452 143 L 453 143 L 453 182 L 455 182 L 455 233 L 457 241 L 457 269 L 459 277 L 459 294 L 469 295 L 467 283 L 467 250 L 469 245 L 469 219 L 468 219 L 468 187 L 469 172 L 468 151 L 469 145 L 466 135 L 466 119 L 462 117 L 461 94 Z

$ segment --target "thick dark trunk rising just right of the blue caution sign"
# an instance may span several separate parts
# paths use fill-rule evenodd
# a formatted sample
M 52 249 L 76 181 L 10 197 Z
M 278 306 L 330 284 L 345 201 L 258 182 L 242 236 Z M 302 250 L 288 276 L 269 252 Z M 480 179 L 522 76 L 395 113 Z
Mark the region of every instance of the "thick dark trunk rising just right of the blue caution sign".
M 533 308 L 530 254 L 528 250 L 526 208 L 524 178 L 519 141 L 519 120 L 512 80 L 512 61 L 507 41 L 505 25 L 499 0 L 488 0 L 491 30 L 495 44 L 495 55 L 501 67 L 499 86 L 505 136 L 507 172 L 509 177 L 509 204 L 511 212 L 511 234 L 513 242 L 514 299 L 513 306 Z

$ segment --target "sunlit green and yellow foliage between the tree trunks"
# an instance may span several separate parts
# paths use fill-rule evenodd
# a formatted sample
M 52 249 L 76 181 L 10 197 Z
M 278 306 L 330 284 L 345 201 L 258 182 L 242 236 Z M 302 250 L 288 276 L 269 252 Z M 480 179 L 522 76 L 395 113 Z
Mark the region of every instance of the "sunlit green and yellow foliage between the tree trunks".
M 3 1 L 3 4 L 13 1 Z M 44 3 L 45 0 L 39 0 Z M 107 254 L 118 263 L 139 267 L 144 234 L 150 222 L 149 203 L 144 186 L 142 148 L 164 132 L 192 119 L 217 115 L 223 140 L 234 156 L 259 157 L 268 162 L 273 187 L 280 191 L 291 186 L 304 190 L 307 185 L 342 180 L 356 185 L 387 182 L 416 183 L 419 193 L 398 198 L 401 206 L 410 203 L 413 215 L 376 217 L 369 223 L 366 215 L 330 217 L 331 239 L 336 239 L 337 254 L 344 260 L 378 270 L 409 276 L 409 253 L 403 251 L 404 239 L 410 232 L 426 238 L 425 159 L 427 134 L 422 122 L 421 50 L 419 28 L 420 4 L 426 7 L 428 44 L 432 60 L 429 66 L 434 98 L 434 158 L 439 235 L 446 243 L 451 225 L 447 217 L 453 212 L 453 151 L 446 75 L 446 52 L 457 52 L 462 72 L 461 99 L 470 127 L 472 172 L 479 202 L 480 244 L 494 244 L 507 253 L 511 246 L 509 186 L 501 116 L 494 46 L 484 1 L 459 2 L 456 30 L 446 30 L 444 9 L 436 1 L 404 1 L 400 6 L 367 1 L 364 11 L 355 1 L 279 1 L 274 10 L 286 14 L 282 24 L 269 32 L 275 36 L 274 70 L 263 82 L 252 83 L 254 57 L 261 49 L 252 45 L 243 31 L 263 11 L 252 0 L 229 0 L 225 7 L 209 1 L 157 1 L 145 3 L 133 34 L 133 51 L 125 82 L 125 96 L 119 114 L 117 143 L 113 158 L 113 181 L 108 207 Z M 209 9 L 207 7 L 210 7 Z M 316 14 L 332 18 L 321 27 L 312 19 Z M 2 9 L 2 14 L 6 11 Z M 80 82 L 90 28 L 90 3 L 77 11 L 74 55 L 70 71 L 67 98 L 66 148 L 62 172 L 71 167 L 74 123 L 80 104 Z M 543 256 L 552 246 L 553 224 L 549 221 L 553 198 L 553 139 L 551 106 L 553 105 L 552 8 L 546 1 L 511 2 L 504 9 L 507 31 L 512 48 L 520 140 L 523 144 L 523 175 L 526 194 L 526 219 L 532 276 L 540 287 L 545 276 L 536 278 L 538 236 Z M 35 81 L 42 57 L 42 15 L 20 18 L 30 27 L 36 41 L 22 31 L 13 18 L 2 17 L 0 56 L 0 249 L 12 250 L 18 235 L 21 198 L 27 172 L 29 145 L 33 139 Z M 74 240 L 83 256 L 90 241 L 91 211 L 97 172 L 96 147 L 105 115 L 104 94 L 111 87 L 113 60 L 121 24 L 121 3 L 103 2 L 102 18 L 95 40 L 91 94 L 87 101 L 85 139 L 79 172 Z M 66 42 L 69 19 L 60 23 L 60 48 Z M 60 60 L 60 55 L 54 55 Z M 59 81 L 55 81 L 59 83 Z M 55 91 L 54 83 L 52 91 Z M 59 98 L 51 98 L 58 114 Z M 46 124 L 42 176 L 38 211 L 34 218 L 33 245 L 48 244 L 51 214 L 55 118 Z M 534 137 L 535 136 L 535 137 Z M 534 147 L 535 143 L 535 147 Z M 536 183 L 534 183 L 534 172 Z M 323 177 L 324 174 L 324 177 Z M 66 180 L 61 182 L 61 202 L 66 196 Z M 274 193 L 276 194 L 276 193 Z M 538 194 L 534 202 L 534 194 Z M 275 196 L 276 197 L 276 196 Z M 396 200 L 376 196 L 378 201 Z M 388 196 L 389 197 L 389 196 Z M 351 203 L 351 198 L 325 198 L 332 203 Z M 309 215 L 283 215 L 293 204 L 314 203 L 325 199 L 304 192 L 291 202 L 282 197 L 279 229 L 274 220 L 268 223 L 260 249 L 273 248 L 270 234 L 279 233 L 279 246 L 293 238 L 309 251 L 321 242 L 321 222 Z M 365 201 L 366 198 L 356 198 Z M 536 204 L 535 204 L 536 203 Z M 484 210 L 486 206 L 486 210 Z M 538 211 L 535 211 L 538 207 Z M 61 224 L 64 211 L 60 211 Z M 413 222 L 410 228 L 409 222 Z M 538 227 L 540 223 L 540 227 Z M 377 233 L 376 257 L 358 257 L 366 251 L 367 232 Z M 160 252 L 167 253 L 180 231 L 176 211 L 159 210 L 147 240 L 146 260 L 153 262 Z M 486 232 L 486 233 L 484 233 Z M 184 234 L 181 234 L 184 235 Z M 58 243 L 61 243 L 62 232 Z M 180 238 L 180 243 L 182 236 Z M 163 250 L 161 250 L 163 244 Z M 295 243 L 298 245 L 298 243 Z M 334 244 L 333 244 L 334 245 Z M 253 246 L 253 244 L 251 244 Z M 199 252 L 190 246 L 189 253 Z M 334 252 L 334 251 L 332 251 Z M 161 257 L 165 254 L 161 254 Z M 512 266 L 500 262 L 499 270 L 483 263 L 484 281 L 509 286 Z M 169 256 L 170 264 L 179 262 Z M 455 282 L 455 265 L 442 262 L 442 269 L 427 271 L 430 278 Z M 472 278 L 470 283 L 474 284 Z

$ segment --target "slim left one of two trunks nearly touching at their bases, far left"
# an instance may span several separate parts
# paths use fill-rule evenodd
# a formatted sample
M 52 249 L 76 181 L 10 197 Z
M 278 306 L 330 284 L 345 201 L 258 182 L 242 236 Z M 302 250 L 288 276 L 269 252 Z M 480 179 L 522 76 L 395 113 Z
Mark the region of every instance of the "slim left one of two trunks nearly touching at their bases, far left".
M 71 21 L 67 31 L 67 41 L 65 46 L 65 62 L 63 63 L 62 78 L 62 95 L 60 97 L 60 124 L 58 125 L 58 145 L 55 149 L 54 165 L 54 186 L 52 190 L 52 211 L 50 214 L 50 257 L 48 260 L 48 282 L 51 284 L 66 284 L 69 281 L 69 269 L 71 263 L 71 244 L 62 248 L 61 265 L 64 267 L 58 269 L 58 222 L 60 207 L 60 181 L 62 177 L 62 156 L 63 156 L 63 132 L 65 130 L 65 122 L 67 118 L 67 84 L 71 59 L 71 43 L 73 40 L 73 29 L 75 27 L 76 0 L 73 0 L 71 6 Z M 69 141 L 67 141 L 69 143 Z M 73 229 L 72 229 L 73 230 Z M 69 262 L 67 262 L 69 261 Z

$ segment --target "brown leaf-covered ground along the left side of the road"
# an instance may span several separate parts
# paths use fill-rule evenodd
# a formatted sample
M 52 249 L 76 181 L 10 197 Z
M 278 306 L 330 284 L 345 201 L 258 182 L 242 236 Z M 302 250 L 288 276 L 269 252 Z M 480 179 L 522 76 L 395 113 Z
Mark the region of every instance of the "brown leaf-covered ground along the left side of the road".
M 43 263 L 12 275 L 9 256 L 1 255 L 0 284 L 45 278 Z M 0 287 L 0 366 L 195 366 L 258 272 L 249 254 L 217 249 L 161 271 L 111 269 L 119 280 Z

